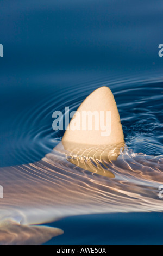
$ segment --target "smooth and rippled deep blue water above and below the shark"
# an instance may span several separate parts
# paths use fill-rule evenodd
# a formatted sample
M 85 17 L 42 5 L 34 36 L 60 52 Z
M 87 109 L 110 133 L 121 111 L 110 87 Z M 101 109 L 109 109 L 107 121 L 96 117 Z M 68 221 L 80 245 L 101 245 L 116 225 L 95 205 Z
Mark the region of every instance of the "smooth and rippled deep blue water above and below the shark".
M 127 146 L 162 159 L 161 0 L 5 0 L 0 6 L 1 167 L 51 152 L 63 136 L 52 129 L 52 113 L 77 109 L 99 86 L 114 93 Z M 153 235 L 146 239 L 149 227 L 160 234 L 158 215 L 162 223 L 157 213 L 67 218 L 55 226 L 69 225 L 68 234 L 50 243 L 160 244 Z M 95 227 L 102 227 L 100 239 Z

